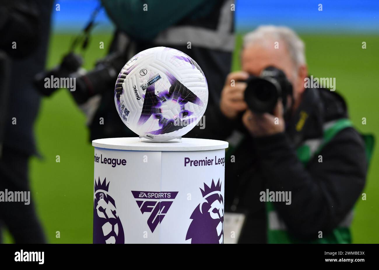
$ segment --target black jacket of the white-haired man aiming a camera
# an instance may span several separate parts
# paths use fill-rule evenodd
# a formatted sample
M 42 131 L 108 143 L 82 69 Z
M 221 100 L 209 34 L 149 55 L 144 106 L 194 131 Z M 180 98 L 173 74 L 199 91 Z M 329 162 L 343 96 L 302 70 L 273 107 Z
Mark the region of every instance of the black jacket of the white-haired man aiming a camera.
M 196 127 L 187 136 L 225 140 L 233 130 L 242 134 L 232 153 L 235 162 L 226 156 L 225 169 L 225 210 L 247 214 L 240 242 L 266 242 L 266 204 L 260 201 L 266 189 L 292 192 L 290 205 L 274 206 L 288 231 L 301 240 L 316 239 L 319 231 L 326 236 L 361 195 L 367 162 L 363 140 L 354 128 L 341 130 L 324 146 L 319 153 L 323 162 L 313 157 L 304 167 L 295 151 L 305 140 L 321 138 L 323 123 L 348 117 L 343 99 L 311 88 L 305 90 L 300 106 L 312 111 L 301 136 L 294 130 L 298 113 L 287 121 L 285 133 L 253 138 L 240 121 L 226 119 L 219 110 L 208 111 L 205 129 Z

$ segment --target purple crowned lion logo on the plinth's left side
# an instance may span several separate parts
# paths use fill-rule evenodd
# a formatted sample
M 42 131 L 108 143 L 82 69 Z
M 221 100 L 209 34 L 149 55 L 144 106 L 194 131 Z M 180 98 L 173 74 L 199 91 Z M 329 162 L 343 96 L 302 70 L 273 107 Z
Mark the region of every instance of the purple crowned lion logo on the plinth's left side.
M 108 194 L 109 183 L 96 182 L 94 190 L 94 244 L 124 243 L 124 229 L 116 212 L 116 203 Z

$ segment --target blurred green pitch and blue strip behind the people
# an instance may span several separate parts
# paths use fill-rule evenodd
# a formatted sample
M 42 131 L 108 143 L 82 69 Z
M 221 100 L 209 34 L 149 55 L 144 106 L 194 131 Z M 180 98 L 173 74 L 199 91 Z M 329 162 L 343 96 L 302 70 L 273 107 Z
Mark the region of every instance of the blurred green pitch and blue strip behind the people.
M 58 64 L 72 38 L 85 25 L 96 0 L 61 0 L 53 11 L 47 67 Z M 318 4 L 323 11 L 318 11 Z M 379 2 L 372 0 L 236 0 L 236 50 L 233 70 L 240 68 L 242 34 L 261 24 L 286 25 L 306 44 L 310 73 L 335 77 L 337 91 L 346 98 L 352 122 L 363 133 L 379 138 Z M 102 10 L 99 25 L 84 53 L 85 68 L 106 55 L 112 23 Z M 104 42 L 104 49 L 99 42 Z M 362 42 L 367 48 L 362 49 Z M 196 60 L 196 59 L 195 59 Z M 113 91 L 113 89 L 110 89 Z M 362 117 L 367 124 L 362 125 Z M 120 121 L 120 125 L 122 122 Z M 42 159 L 31 160 L 32 199 L 51 243 L 92 243 L 93 153 L 86 119 L 66 89 L 44 98 L 35 124 Z M 56 163 L 60 155 L 60 163 Z M 375 148 L 364 192 L 352 225 L 354 243 L 379 243 L 379 147 Z M 56 232 L 60 238 L 56 238 Z M 9 234 L 6 242 L 12 242 Z

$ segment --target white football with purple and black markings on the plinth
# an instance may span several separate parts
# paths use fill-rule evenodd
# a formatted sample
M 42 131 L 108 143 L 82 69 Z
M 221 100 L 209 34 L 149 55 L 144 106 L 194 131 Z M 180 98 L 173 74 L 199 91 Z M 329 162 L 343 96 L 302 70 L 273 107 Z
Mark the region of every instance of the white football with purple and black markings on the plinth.
M 116 81 L 114 102 L 130 130 L 154 141 L 182 137 L 204 115 L 208 85 L 199 65 L 167 47 L 130 59 Z

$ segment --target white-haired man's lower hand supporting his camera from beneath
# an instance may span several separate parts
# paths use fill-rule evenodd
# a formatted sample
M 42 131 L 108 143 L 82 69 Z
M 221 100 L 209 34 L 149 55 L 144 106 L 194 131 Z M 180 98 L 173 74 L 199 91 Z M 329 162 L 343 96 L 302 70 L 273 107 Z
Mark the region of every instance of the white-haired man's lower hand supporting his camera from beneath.
M 279 100 L 274 114 L 256 114 L 247 110 L 242 116 L 242 122 L 253 137 L 270 136 L 285 130 L 283 104 Z

